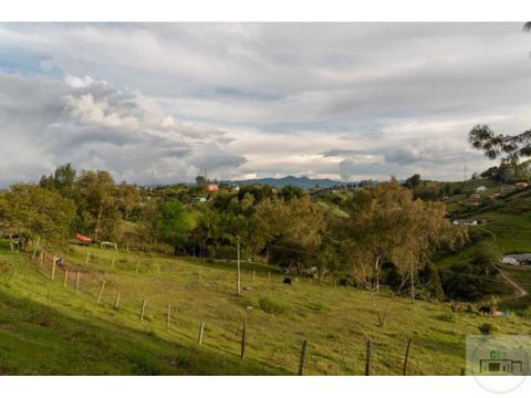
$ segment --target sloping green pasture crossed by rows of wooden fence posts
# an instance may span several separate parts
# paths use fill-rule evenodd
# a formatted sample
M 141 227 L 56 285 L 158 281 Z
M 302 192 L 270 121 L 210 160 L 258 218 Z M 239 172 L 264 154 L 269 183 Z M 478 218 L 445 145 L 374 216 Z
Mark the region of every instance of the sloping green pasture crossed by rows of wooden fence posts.
M 365 291 L 308 280 L 289 286 L 278 273 L 269 281 L 267 266 L 244 264 L 238 297 L 230 262 L 91 248 L 85 268 L 87 250 L 66 253 L 70 272 L 64 287 L 63 269 L 50 281 L 51 261 L 40 268 L 27 254 L 11 253 L 6 244 L 0 248 L 1 374 L 293 375 L 301 343 L 308 339 L 305 374 L 362 375 L 365 342 L 371 338 L 373 374 L 397 375 L 406 342 L 414 337 L 409 374 L 458 375 L 465 365 L 465 337 L 478 334 L 480 324 L 493 323 L 507 334 L 528 333 L 531 326 L 519 316 L 452 315 L 448 304 L 413 306 L 395 298 L 387 325 L 379 327 Z M 140 322 L 143 300 L 147 304 Z M 376 304 L 383 307 L 388 300 L 379 297 Z M 166 328 L 168 304 L 173 315 Z M 248 345 L 240 359 L 246 316 Z M 201 346 L 200 322 L 206 325 Z

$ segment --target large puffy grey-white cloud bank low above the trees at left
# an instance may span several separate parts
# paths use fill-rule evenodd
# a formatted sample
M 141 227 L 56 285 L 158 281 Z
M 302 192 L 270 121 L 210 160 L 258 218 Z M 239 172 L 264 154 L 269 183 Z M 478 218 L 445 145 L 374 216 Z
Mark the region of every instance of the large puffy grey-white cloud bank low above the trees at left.
M 7 88 L 0 95 L 3 185 L 35 180 L 62 163 L 108 169 L 118 180 L 150 184 L 155 177 L 160 184 L 244 161 L 223 150 L 225 132 L 178 123 L 142 93 L 6 74 L 0 83 Z

